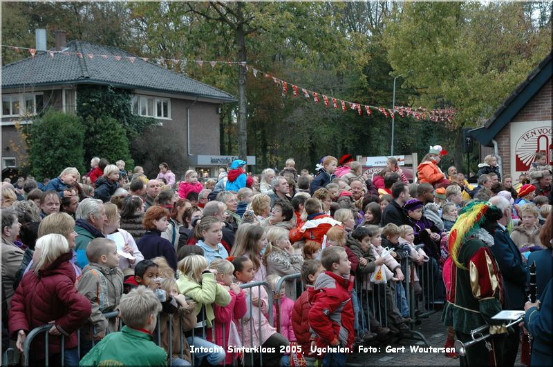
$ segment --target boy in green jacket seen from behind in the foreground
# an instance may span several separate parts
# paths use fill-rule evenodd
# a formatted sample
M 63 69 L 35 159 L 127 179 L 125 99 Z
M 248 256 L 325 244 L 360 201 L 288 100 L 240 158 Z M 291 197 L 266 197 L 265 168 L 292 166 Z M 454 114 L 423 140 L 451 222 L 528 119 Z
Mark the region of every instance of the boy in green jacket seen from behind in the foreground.
M 167 366 L 167 353 L 153 342 L 161 304 L 158 297 L 139 286 L 121 297 L 122 331 L 110 333 L 96 344 L 79 366 Z

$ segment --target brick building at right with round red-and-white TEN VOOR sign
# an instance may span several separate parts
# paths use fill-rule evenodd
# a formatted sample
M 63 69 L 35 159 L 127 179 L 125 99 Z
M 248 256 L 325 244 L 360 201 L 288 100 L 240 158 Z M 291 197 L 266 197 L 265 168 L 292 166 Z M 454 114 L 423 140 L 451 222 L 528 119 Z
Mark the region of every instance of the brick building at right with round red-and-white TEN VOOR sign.
M 550 53 L 529 74 L 485 123 L 470 130 L 480 142 L 480 161 L 489 154 L 499 157 L 502 177 L 516 182 L 534 161 L 536 152 L 547 154 L 553 164 L 553 59 Z

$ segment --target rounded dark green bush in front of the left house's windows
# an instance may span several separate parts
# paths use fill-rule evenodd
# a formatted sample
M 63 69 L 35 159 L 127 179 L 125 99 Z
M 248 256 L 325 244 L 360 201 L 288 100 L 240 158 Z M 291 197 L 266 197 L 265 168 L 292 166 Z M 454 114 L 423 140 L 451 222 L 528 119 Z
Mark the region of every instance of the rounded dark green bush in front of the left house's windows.
M 76 115 L 48 110 L 32 123 L 29 161 L 41 181 L 57 177 L 64 168 L 84 171 L 84 126 Z

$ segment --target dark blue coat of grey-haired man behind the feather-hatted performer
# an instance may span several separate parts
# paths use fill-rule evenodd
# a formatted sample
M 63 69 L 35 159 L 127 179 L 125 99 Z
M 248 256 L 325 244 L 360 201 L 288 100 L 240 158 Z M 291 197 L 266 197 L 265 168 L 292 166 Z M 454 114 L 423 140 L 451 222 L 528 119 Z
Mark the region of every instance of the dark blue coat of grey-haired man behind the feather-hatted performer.
M 500 226 L 496 227 L 494 233 L 494 246 L 489 249 L 494 254 L 503 275 L 508 301 L 507 309 L 523 310 L 527 301 L 525 293 L 527 270 L 523 265 L 521 251 L 514 244 L 509 232 Z

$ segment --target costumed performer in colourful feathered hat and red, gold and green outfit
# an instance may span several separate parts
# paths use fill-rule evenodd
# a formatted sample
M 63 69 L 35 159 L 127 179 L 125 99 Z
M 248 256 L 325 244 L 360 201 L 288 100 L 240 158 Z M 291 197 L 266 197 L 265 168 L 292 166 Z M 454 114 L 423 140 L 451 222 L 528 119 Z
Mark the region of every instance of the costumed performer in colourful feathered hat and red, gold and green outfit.
M 471 330 L 482 325 L 489 325 L 491 334 L 489 339 L 467 348 L 460 358 L 461 366 L 505 364 L 505 320 L 492 319 L 504 306 L 503 277 L 491 252 L 497 221 L 503 215 L 489 202 L 473 201 L 461 210 L 449 237 L 451 287 L 442 321 L 463 343 L 471 341 Z

